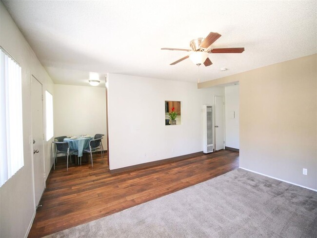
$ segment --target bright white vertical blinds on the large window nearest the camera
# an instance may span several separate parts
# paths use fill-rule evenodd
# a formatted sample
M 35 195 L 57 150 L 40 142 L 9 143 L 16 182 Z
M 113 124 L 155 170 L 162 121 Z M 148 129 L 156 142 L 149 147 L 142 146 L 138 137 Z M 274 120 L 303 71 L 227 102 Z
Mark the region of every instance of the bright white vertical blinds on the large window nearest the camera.
M 0 48 L 0 186 L 24 165 L 21 67 Z

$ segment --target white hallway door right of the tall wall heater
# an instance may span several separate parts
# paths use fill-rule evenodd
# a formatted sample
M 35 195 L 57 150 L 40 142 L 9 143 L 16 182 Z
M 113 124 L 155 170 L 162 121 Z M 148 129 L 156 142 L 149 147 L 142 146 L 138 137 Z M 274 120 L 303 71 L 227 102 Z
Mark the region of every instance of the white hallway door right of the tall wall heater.
M 224 97 L 215 96 L 215 150 L 224 149 Z

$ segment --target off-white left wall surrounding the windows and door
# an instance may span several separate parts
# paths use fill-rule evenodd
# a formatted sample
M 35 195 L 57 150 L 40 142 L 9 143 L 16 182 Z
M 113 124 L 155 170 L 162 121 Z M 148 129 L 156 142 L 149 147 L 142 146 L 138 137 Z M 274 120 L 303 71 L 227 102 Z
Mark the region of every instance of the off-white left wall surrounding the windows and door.
M 49 78 L 19 28 L 0 1 L 0 45 L 12 55 L 22 68 L 22 113 L 24 166 L 0 188 L 0 237 L 24 237 L 35 216 L 32 180 L 31 76 L 42 84 L 43 92 L 49 90 L 54 97 L 53 82 Z M 45 123 L 45 99 L 43 101 Z M 45 124 L 44 124 L 45 128 Z M 45 133 L 45 131 L 44 131 Z M 51 168 L 51 141 L 44 141 L 45 173 Z

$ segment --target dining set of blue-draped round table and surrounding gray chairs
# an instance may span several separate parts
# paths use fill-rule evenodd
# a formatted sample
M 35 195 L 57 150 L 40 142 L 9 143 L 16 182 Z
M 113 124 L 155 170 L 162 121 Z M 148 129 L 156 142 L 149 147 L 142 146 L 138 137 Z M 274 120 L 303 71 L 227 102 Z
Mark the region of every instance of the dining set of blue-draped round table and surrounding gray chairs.
M 78 135 L 78 136 L 59 136 L 54 138 L 52 143 L 55 146 L 54 151 L 54 170 L 58 158 L 64 156 L 66 158 L 66 170 L 68 171 L 69 163 L 72 163 L 72 156 L 75 157 L 74 163 L 81 165 L 81 160 L 84 154 L 88 155 L 93 167 L 93 154 L 100 152 L 101 158 L 104 155 L 102 144 L 104 134 Z M 59 156 L 60 155 L 60 156 Z

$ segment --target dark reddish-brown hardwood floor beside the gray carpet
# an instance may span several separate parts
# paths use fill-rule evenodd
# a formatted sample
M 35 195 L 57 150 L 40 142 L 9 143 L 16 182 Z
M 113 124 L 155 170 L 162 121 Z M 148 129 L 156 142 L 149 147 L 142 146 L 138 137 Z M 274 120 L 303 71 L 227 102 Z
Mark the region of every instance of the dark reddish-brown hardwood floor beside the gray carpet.
M 212 179 L 237 168 L 238 156 L 227 150 L 201 153 L 119 174 L 110 174 L 107 158 L 100 154 L 94 155 L 94 167 L 71 164 L 68 171 L 65 159 L 59 159 L 28 237 L 43 237 Z

